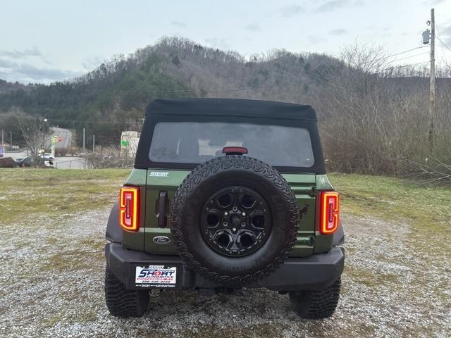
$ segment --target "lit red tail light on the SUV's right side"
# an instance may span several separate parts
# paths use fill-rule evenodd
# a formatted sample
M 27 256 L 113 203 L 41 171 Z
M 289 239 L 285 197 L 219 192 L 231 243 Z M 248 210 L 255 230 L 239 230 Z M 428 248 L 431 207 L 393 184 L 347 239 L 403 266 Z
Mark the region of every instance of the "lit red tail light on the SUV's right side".
M 333 234 L 340 220 L 340 195 L 338 192 L 321 192 L 319 211 L 319 231 Z

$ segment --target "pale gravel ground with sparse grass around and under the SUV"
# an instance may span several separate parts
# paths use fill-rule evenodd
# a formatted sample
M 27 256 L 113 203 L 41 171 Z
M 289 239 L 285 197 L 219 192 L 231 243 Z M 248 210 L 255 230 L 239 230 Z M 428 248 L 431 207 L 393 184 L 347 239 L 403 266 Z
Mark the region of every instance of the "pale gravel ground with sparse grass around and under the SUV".
M 264 289 L 165 292 L 144 318 L 113 318 L 103 294 L 108 214 L 0 222 L 0 337 L 451 337 L 449 261 L 417 251 L 426 238 L 407 224 L 347 215 L 333 318 L 301 320 L 288 296 Z

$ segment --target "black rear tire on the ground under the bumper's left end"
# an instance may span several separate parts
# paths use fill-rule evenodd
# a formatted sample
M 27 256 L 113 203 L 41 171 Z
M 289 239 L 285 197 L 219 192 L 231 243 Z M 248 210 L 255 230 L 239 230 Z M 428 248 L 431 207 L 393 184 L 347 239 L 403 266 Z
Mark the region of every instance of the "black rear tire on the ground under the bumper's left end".
M 142 317 L 149 305 L 149 292 L 125 289 L 125 284 L 106 266 L 105 301 L 111 315 Z

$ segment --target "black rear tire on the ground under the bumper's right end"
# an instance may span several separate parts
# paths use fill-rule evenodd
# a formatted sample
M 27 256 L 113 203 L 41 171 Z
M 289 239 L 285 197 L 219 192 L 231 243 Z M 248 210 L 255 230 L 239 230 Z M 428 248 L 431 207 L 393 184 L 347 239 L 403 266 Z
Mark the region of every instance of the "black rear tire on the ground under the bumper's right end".
M 323 290 L 290 292 L 293 311 L 301 318 L 329 318 L 337 308 L 340 298 L 341 280 L 338 278 L 332 285 Z

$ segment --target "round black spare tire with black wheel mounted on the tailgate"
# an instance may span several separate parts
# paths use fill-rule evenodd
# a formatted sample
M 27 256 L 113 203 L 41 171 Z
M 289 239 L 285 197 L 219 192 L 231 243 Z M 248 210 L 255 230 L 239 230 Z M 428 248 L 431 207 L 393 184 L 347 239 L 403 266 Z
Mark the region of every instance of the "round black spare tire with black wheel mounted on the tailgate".
M 170 218 L 186 265 L 221 284 L 245 284 L 285 261 L 295 244 L 299 211 L 292 189 L 271 165 L 228 155 L 185 178 Z

